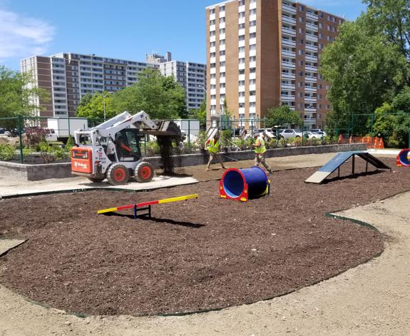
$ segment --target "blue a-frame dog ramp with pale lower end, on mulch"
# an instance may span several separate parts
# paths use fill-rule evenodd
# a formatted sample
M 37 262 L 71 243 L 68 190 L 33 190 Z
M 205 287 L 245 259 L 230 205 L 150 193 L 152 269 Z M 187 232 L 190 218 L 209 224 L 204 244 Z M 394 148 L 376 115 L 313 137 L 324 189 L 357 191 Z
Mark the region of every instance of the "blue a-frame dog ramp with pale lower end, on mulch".
M 310 176 L 304 182 L 307 183 L 322 183 L 327 176 L 332 174 L 334 170 L 337 170 L 345 163 L 349 158 L 352 158 L 352 174 L 354 175 L 354 157 L 359 156 L 364 161 L 366 161 L 366 173 L 367 173 L 367 166 L 370 163 L 372 166 L 376 167 L 377 169 L 390 169 L 389 166 L 386 166 L 382 161 L 378 158 L 375 158 L 371 154 L 367 153 L 367 151 L 354 151 L 354 152 L 342 152 L 337 153 L 337 156 L 334 156 L 332 160 L 327 162 L 322 168 L 317 170 L 312 176 Z M 340 171 L 339 171 L 340 173 Z

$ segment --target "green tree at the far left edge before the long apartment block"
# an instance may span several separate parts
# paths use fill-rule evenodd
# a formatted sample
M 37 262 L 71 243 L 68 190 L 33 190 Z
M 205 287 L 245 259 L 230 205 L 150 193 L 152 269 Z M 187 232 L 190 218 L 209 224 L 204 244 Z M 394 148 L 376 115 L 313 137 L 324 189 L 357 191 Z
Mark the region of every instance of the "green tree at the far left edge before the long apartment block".
M 39 111 L 37 99 L 49 101 L 50 94 L 43 88 L 28 88 L 30 73 L 18 73 L 0 66 L 0 118 L 34 116 Z

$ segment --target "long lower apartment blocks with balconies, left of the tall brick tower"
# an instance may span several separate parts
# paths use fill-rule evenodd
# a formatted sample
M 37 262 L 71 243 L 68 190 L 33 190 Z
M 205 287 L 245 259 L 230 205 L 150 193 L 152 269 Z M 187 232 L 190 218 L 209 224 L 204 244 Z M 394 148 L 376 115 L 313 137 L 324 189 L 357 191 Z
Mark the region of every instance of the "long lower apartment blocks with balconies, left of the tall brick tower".
M 45 117 L 76 116 L 76 107 L 86 93 L 115 92 L 138 81 L 138 73 L 145 68 L 158 69 L 164 76 L 175 75 L 175 79 L 186 91 L 187 110 L 198 108 L 204 92 L 198 85 L 205 86 L 205 64 L 171 61 L 171 54 L 147 55 L 145 63 L 94 54 L 61 53 L 49 57 L 32 56 L 22 59 L 21 72 L 30 72 L 33 83 L 46 89 L 51 101 L 36 101 L 41 110 L 36 113 Z M 175 63 L 175 73 L 168 71 Z M 182 64 L 182 66 L 180 66 Z M 184 68 L 184 76 L 177 70 Z

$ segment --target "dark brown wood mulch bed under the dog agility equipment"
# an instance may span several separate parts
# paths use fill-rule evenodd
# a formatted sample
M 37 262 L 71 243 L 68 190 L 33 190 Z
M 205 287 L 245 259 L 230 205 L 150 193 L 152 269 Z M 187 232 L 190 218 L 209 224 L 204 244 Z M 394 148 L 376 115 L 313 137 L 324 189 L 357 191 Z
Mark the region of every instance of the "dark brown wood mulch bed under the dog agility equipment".
M 383 250 L 383 237 L 325 217 L 409 190 L 410 170 L 304 183 L 317 168 L 273 173 L 272 195 L 239 203 L 218 183 L 148 193 L 90 191 L 0 200 L 0 238 L 28 238 L 0 258 L 0 282 L 70 312 L 193 312 L 275 297 L 332 277 Z M 364 168 L 357 160 L 357 171 Z M 153 218 L 96 210 L 199 193 L 153 206 Z

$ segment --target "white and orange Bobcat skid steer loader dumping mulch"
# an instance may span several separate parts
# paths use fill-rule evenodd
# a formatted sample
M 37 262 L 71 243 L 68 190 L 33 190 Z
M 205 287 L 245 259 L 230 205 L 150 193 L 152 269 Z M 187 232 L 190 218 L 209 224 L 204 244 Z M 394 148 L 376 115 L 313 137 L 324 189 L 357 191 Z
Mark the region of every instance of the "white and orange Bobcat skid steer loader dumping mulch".
M 125 184 L 130 176 L 149 182 L 154 168 L 142 160 L 140 138 L 144 134 L 179 141 L 181 131 L 173 121 L 151 121 L 144 111 L 133 116 L 125 111 L 87 131 L 74 131 L 72 173 L 92 182 L 106 178 L 111 185 Z

